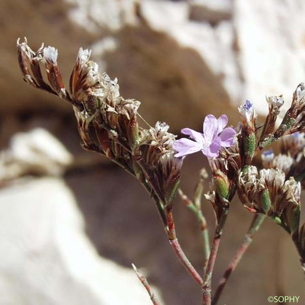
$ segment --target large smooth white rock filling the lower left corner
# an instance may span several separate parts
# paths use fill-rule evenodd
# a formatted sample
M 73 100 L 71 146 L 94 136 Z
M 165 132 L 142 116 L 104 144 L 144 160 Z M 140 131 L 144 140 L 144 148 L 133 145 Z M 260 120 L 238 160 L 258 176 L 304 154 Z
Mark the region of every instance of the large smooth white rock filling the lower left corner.
M 151 304 L 131 268 L 99 257 L 63 181 L 19 181 L 0 202 L 1 304 Z

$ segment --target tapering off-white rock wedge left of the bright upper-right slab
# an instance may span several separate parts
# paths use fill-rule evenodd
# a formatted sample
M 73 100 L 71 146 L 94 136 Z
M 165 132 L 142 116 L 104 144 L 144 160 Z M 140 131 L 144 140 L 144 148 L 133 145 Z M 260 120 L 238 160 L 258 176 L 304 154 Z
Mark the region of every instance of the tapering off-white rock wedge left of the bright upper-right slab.
M 200 3 L 199 3 L 200 2 Z M 202 56 L 214 75 L 220 75 L 222 84 L 233 103 L 240 100 L 242 83 L 239 65 L 233 48 L 234 28 L 228 14 L 231 5 L 220 1 L 218 5 L 210 1 L 169 2 L 143 0 L 141 12 L 149 26 L 173 37 L 181 46 L 193 48 Z M 217 24 L 210 23 L 208 17 L 200 22 L 190 20 L 190 11 L 200 5 L 215 12 L 226 12 L 217 19 Z M 210 13 L 207 13 L 209 15 Z

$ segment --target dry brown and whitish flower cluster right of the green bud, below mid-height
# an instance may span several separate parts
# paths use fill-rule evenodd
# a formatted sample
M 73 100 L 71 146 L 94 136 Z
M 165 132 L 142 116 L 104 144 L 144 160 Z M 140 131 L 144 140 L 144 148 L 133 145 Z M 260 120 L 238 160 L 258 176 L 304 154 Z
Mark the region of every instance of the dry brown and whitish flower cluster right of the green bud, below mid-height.
M 254 213 L 270 216 L 287 231 L 294 233 L 300 222 L 300 182 L 293 177 L 285 180 L 280 169 L 262 169 L 249 166 L 240 172 L 238 194 L 243 205 Z

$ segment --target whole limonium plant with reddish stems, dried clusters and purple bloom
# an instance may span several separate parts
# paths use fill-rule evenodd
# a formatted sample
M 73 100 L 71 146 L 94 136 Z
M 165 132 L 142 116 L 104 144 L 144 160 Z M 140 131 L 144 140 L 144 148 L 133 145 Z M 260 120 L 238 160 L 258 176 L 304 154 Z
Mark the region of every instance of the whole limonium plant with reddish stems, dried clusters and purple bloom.
M 294 91 L 291 105 L 278 128 L 276 119 L 284 104 L 281 95 L 267 98 L 268 115 L 261 126 L 257 124 L 253 103 L 247 100 L 238 108 L 241 116 L 238 126 L 226 127 L 228 117 L 225 114 L 218 119 L 209 114 L 204 118 L 202 132 L 183 128 L 181 134 L 187 137 L 177 140 L 167 124 L 156 122 L 151 127 L 142 119 L 138 112 L 141 103 L 120 95 L 117 79 L 111 80 L 107 74 L 99 73 L 98 65 L 89 59 L 91 51 L 79 49 L 69 91 L 63 84 L 54 47 L 42 45 L 34 52 L 26 39 L 23 42 L 18 39 L 17 52 L 23 79 L 28 84 L 72 105 L 84 149 L 116 163 L 148 192 L 174 253 L 202 288 L 201 304 L 217 304 L 230 274 L 266 217 L 291 236 L 305 274 L 305 224 L 300 224 L 300 193 L 305 187 L 304 83 Z M 45 70 L 47 80 L 41 69 Z M 139 120 L 147 127 L 140 127 Z M 278 139 L 281 139 L 280 154 L 275 155 L 268 146 Z M 212 179 L 209 190 L 203 194 L 208 175 L 205 169 L 200 171 L 192 200 L 178 185 L 184 158 L 196 152 L 202 152 L 207 158 Z M 253 164 L 255 156 L 260 160 L 255 163 L 259 166 Z M 203 272 L 192 266 L 177 239 L 173 217 L 177 192 L 200 224 L 205 257 Z M 214 264 L 235 194 L 242 206 L 253 213 L 253 221 L 213 294 Z M 202 210 L 203 195 L 215 212 L 212 242 Z M 152 303 L 160 304 L 146 278 L 135 265 L 133 268 Z

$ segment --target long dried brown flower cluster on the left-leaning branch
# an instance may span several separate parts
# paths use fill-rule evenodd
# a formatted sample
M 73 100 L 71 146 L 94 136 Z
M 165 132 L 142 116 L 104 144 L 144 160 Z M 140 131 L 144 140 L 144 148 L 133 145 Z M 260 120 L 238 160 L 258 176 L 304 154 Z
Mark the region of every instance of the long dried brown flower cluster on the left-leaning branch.
M 120 96 L 117 79 L 100 74 L 87 49 L 79 49 L 70 76 L 70 93 L 57 65 L 57 49 L 42 45 L 34 52 L 26 39 L 22 43 L 18 39 L 17 51 L 27 83 L 73 105 L 83 147 L 119 164 L 163 206 L 170 205 L 180 180 L 182 159 L 174 157 L 175 136 L 168 132 L 168 125 L 157 122 L 155 127 L 139 127 L 141 103 Z M 48 83 L 42 77 L 43 64 Z

